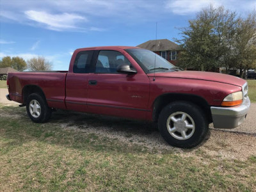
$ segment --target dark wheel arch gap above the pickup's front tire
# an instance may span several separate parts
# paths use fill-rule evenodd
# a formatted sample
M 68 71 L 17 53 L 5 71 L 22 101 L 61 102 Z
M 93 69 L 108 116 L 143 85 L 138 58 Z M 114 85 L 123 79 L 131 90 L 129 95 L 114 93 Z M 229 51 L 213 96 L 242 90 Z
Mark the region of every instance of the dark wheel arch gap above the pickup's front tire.
M 164 93 L 163 95 L 159 95 L 153 102 L 152 106 L 152 119 L 156 122 L 159 118 L 159 114 L 161 110 L 169 104 L 170 102 L 175 101 L 187 101 L 199 106 L 203 111 L 205 111 L 205 115 L 207 116 L 207 120 L 209 123 L 212 122 L 211 117 L 211 108 L 204 98 L 186 93 Z

